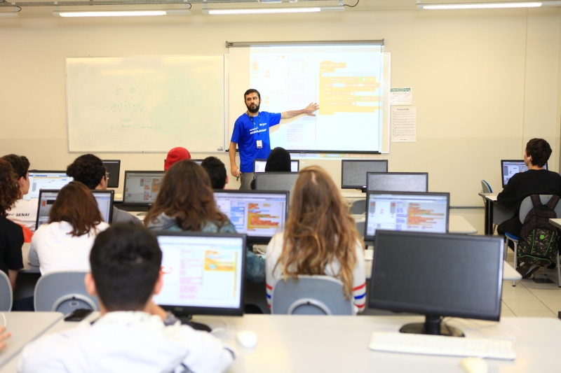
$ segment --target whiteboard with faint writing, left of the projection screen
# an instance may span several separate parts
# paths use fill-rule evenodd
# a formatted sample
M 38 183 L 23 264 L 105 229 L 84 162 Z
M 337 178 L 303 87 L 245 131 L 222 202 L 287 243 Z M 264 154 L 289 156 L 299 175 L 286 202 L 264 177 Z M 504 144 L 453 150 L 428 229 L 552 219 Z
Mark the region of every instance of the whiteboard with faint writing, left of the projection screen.
M 66 59 L 70 152 L 224 151 L 224 55 Z

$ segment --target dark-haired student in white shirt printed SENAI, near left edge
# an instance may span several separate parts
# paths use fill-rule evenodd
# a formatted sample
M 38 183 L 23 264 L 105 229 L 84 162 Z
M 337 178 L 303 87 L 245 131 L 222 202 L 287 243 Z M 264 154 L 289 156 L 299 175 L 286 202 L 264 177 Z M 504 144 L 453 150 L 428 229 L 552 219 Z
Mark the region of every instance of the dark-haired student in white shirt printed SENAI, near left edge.
M 2 157 L 12 165 L 13 171 L 18 176 L 18 183 L 20 185 L 20 197 L 15 202 L 15 205 L 8 211 L 8 219 L 14 223 L 18 223 L 22 227 L 26 227 L 31 233 L 29 239 L 35 232 L 35 224 L 37 220 L 37 204 L 38 198 L 32 198 L 29 201 L 23 199 L 24 195 L 29 193 L 29 160 L 23 155 L 8 154 Z M 26 241 L 27 242 L 27 241 Z

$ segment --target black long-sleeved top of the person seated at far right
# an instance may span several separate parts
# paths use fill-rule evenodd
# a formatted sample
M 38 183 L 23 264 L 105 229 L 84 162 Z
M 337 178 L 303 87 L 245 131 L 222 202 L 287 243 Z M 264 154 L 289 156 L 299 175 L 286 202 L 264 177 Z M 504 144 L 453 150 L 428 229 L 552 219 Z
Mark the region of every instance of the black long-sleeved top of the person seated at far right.
M 496 196 L 502 206 L 516 206 L 516 215 L 522 200 L 529 195 L 558 195 L 561 197 L 561 175 L 546 169 L 529 169 L 513 175 L 503 191 Z

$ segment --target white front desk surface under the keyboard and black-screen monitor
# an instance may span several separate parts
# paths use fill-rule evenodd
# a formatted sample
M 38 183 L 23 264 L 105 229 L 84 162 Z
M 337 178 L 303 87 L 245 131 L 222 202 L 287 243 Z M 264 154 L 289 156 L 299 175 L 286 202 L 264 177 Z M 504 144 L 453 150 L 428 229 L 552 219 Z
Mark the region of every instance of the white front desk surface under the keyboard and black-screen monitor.
M 211 328 L 227 329 L 215 336 L 237 350 L 231 373 L 465 373 L 459 365 L 461 358 L 368 349 L 372 332 L 397 332 L 406 323 L 424 321 L 421 316 L 198 316 L 195 321 Z M 467 337 L 518 337 L 515 345 L 518 358 L 488 359 L 489 372 L 561 371 L 561 361 L 556 358 L 561 349 L 561 321 L 556 318 L 501 318 L 500 323 L 454 318 L 448 323 L 463 330 Z M 59 321 L 48 333 L 75 327 L 76 323 Z M 255 349 L 244 349 L 236 343 L 238 330 L 257 333 Z M 18 359 L 12 359 L 0 373 L 15 372 Z

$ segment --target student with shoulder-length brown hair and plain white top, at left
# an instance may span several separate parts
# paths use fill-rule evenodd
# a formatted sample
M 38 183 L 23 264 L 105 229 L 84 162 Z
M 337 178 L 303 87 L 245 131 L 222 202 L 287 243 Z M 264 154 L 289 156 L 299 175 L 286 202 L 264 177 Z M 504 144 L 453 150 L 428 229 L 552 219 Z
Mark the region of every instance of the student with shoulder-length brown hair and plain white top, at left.
M 48 223 L 35 231 L 27 260 L 39 266 L 41 274 L 89 272 L 88 258 L 95 236 L 108 227 L 88 187 L 72 181 L 58 193 Z

